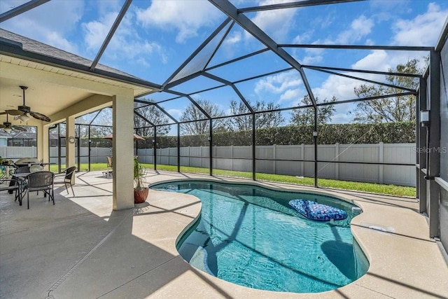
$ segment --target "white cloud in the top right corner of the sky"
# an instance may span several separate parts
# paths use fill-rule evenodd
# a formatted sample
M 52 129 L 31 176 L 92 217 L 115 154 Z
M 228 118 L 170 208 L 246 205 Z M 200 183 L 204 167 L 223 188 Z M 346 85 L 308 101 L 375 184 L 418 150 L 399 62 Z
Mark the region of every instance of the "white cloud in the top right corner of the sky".
M 393 25 L 393 43 L 400 46 L 435 46 L 442 26 L 447 20 L 448 10 L 428 4 L 428 11 L 417 15 L 413 20 L 398 20 Z

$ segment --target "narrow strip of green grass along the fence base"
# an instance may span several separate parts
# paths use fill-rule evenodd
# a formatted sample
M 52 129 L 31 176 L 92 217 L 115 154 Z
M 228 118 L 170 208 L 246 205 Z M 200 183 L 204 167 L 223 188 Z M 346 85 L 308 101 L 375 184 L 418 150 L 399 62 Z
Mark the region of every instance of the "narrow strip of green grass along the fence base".
M 141 163 L 141 165 L 148 169 L 154 169 L 153 164 Z M 62 165 L 62 169 L 64 169 L 64 167 L 65 165 Z M 87 169 L 87 163 L 83 163 L 80 165 L 81 172 L 86 172 Z M 90 165 L 90 170 L 92 172 L 106 169 L 108 169 L 107 163 L 95 163 Z M 165 170 L 168 172 L 177 172 L 177 166 L 175 165 L 157 165 L 157 169 Z M 57 172 L 57 165 L 50 165 L 50 171 Z M 209 168 L 181 166 L 181 172 L 193 174 L 209 174 Z M 216 176 L 235 176 L 244 179 L 252 179 L 252 172 L 235 172 L 223 169 L 213 169 L 213 174 Z M 255 178 L 258 181 L 276 181 L 279 183 L 293 183 L 296 185 L 314 186 L 314 178 L 310 177 L 257 173 L 255 174 Z M 318 186 L 408 197 L 415 197 L 416 193 L 415 187 L 384 185 L 380 183 L 363 183 L 356 181 L 338 181 L 333 179 L 318 179 Z

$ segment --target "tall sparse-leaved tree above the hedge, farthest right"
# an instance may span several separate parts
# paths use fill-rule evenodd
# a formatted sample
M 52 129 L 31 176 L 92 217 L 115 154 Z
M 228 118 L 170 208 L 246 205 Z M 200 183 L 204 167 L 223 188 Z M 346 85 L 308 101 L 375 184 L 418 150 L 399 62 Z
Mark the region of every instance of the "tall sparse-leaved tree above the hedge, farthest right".
M 428 62 L 427 59 L 425 59 Z M 389 72 L 398 72 L 405 74 L 421 74 L 423 69 L 419 68 L 419 60 L 414 58 L 406 64 L 398 64 L 395 69 L 389 69 Z M 404 76 L 386 76 L 387 83 L 398 85 L 403 88 L 416 90 L 419 81 L 412 77 Z M 355 94 L 359 98 L 377 97 L 380 95 L 393 95 L 402 92 L 399 88 L 391 88 L 382 85 L 360 85 L 355 88 Z M 395 123 L 404 121 L 415 121 L 416 97 L 414 95 L 405 95 L 398 97 L 388 97 L 385 99 L 372 99 L 370 101 L 359 102 L 356 111 L 350 111 L 355 115 L 354 120 L 360 123 Z

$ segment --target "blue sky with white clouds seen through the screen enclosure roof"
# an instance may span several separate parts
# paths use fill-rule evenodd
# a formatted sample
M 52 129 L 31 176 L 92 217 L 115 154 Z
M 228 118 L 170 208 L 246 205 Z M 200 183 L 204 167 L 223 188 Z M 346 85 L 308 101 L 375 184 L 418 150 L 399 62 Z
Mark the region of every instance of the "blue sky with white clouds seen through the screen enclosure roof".
M 25 1 L 3 0 L 0 12 Z M 281 1 L 233 0 L 238 8 Z M 285 1 L 287 2 L 287 1 Z M 97 55 L 106 34 L 124 1 L 53 0 L 0 27 L 28 36 L 91 60 Z M 325 43 L 381 46 L 435 46 L 448 16 L 448 1 L 373 0 L 348 4 L 311 6 L 288 10 L 247 13 L 277 43 Z M 100 63 L 126 71 L 148 81 L 162 84 L 225 20 L 225 15 L 208 1 L 134 0 Z M 259 41 L 235 25 L 211 65 L 263 48 Z M 426 53 L 384 50 L 303 50 L 287 49 L 302 64 L 387 71 L 399 63 Z M 289 67 L 273 53 L 210 71 L 228 81 Z M 359 81 L 305 70 L 316 97 L 353 99 Z M 371 78 L 379 78 L 371 76 Z M 219 85 L 197 78 L 174 88 L 182 92 Z M 265 100 L 281 107 L 300 103 L 306 90 L 300 76 L 289 71 L 237 85 L 251 102 Z M 238 99 L 230 88 L 193 96 L 216 102 L 228 113 L 228 103 Z M 154 95 L 153 99 L 167 98 Z M 188 104 L 179 99 L 163 104 L 179 118 Z M 338 105 L 332 123 L 351 120 L 352 105 Z M 288 120 L 288 112 L 284 113 Z

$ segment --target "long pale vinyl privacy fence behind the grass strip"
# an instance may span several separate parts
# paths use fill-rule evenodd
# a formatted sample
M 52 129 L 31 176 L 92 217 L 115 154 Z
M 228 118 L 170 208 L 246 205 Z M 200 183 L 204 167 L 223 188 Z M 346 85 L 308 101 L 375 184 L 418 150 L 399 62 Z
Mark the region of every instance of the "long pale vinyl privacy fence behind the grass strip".
M 209 167 L 209 147 L 192 146 L 181 150 L 181 166 Z M 13 153 L 14 155 L 11 155 Z M 81 156 L 88 154 L 88 148 L 80 149 Z M 177 165 L 177 148 L 158 148 L 157 163 Z M 34 147 L 0 147 L 3 158 L 36 157 Z M 50 155 L 57 155 L 57 148 L 50 148 Z M 62 148 L 62 155 L 65 149 Z M 106 162 L 112 155 L 111 148 L 91 148 L 90 162 Z M 139 161 L 153 163 L 153 149 L 139 149 Z M 344 162 L 401 163 L 415 165 L 415 144 L 331 144 L 318 146 L 318 160 Z M 216 169 L 252 172 L 251 146 L 214 146 L 213 165 Z M 256 172 L 287 174 L 293 176 L 314 176 L 314 162 L 291 160 L 314 160 L 314 145 L 256 146 Z M 52 158 L 50 162 L 57 162 Z M 81 157 L 81 163 L 87 163 Z M 64 159 L 62 160 L 64 163 Z M 347 163 L 318 163 L 318 177 L 346 181 L 365 181 L 399 186 L 416 186 L 415 166 L 363 165 Z

